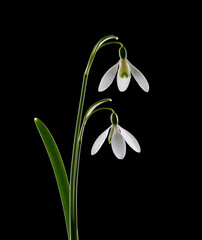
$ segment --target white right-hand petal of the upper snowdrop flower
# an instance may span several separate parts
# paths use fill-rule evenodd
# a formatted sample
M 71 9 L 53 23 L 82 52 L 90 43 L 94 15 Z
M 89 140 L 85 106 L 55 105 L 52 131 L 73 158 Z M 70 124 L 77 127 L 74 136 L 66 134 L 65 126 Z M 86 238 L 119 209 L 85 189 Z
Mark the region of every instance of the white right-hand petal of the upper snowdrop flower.
M 137 81 L 137 83 L 139 84 L 139 86 L 145 92 L 148 92 L 149 91 L 149 83 L 147 82 L 147 79 L 145 78 L 145 76 L 135 66 L 133 66 L 128 60 L 127 60 L 127 62 L 130 66 L 131 73 L 132 73 L 133 77 L 135 78 L 135 80 Z

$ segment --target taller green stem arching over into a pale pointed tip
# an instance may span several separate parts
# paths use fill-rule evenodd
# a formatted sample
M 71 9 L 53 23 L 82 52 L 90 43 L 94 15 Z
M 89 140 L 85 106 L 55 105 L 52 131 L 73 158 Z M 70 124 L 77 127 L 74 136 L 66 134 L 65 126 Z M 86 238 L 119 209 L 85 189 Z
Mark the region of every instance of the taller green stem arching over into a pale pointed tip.
M 81 118 L 83 113 L 83 106 L 85 100 L 85 93 L 88 81 L 88 74 L 95 58 L 96 52 L 99 50 L 100 46 L 107 40 L 118 39 L 115 36 L 109 35 L 103 37 L 93 48 L 93 51 L 90 55 L 81 88 L 80 102 L 77 114 L 75 135 L 74 135 L 74 144 L 72 152 L 72 165 L 70 173 L 70 240 L 78 240 L 78 227 L 77 227 L 77 182 L 78 182 L 78 171 L 79 171 L 79 155 L 81 149 L 81 142 L 79 143 L 79 132 L 81 129 Z

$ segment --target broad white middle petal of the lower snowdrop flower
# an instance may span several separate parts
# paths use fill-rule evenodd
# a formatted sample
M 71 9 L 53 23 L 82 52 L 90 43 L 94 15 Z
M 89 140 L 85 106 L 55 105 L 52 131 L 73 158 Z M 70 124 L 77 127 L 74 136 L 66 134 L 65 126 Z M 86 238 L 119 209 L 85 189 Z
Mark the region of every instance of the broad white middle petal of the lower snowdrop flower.
M 118 159 L 123 159 L 126 155 L 126 142 L 118 130 L 118 126 L 115 127 L 114 134 L 112 136 L 112 150 Z

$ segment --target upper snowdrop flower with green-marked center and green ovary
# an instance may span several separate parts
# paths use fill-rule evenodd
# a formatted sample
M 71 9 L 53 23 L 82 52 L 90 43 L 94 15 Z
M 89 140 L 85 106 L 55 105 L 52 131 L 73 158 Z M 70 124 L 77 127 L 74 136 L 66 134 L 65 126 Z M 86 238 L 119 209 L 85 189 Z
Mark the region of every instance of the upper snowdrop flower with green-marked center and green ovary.
M 106 90 L 113 82 L 117 74 L 117 85 L 120 92 L 124 92 L 130 83 L 131 73 L 139 86 L 145 91 L 149 91 L 149 84 L 145 76 L 127 60 L 127 51 L 125 47 L 119 49 L 120 60 L 113 67 L 111 67 L 100 81 L 98 91 Z

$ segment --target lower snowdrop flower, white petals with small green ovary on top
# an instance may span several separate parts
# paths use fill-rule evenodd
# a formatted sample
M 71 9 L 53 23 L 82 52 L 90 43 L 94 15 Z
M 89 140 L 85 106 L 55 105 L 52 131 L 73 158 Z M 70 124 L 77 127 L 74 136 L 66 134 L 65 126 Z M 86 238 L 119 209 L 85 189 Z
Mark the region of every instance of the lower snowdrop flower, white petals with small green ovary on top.
M 108 141 L 111 144 L 112 151 L 118 159 L 123 159 L 126 155 L 126 143 L 136 152 L 140 152 L 140 145 L 135 137 L 129 133 L 127 130 L 118 125 L 118 116 L 116 113 L 111 114 L 112 125 L 107 128 L 100 136 L 95 140 L 91 155 L 96 154 L 101 146 L 103 145 L 105 139 L 108 136 Z

